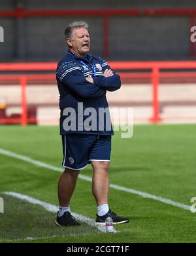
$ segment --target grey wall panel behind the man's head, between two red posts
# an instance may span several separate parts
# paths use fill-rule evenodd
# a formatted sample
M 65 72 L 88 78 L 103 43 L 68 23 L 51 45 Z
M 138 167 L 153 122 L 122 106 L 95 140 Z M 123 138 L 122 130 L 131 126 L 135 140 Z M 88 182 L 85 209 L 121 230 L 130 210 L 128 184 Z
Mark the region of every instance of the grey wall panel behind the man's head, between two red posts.
M 85 17 L 80 17 L 86 20 Z M 55 60 L 67 53 L 64 31 L 73 18 L 27 18 L 25 20 L 26 58 Z M 91 52 L 103 55 L 103 19 L 88 18 Z

